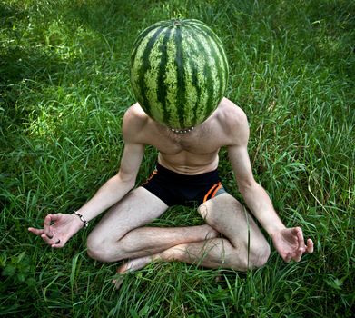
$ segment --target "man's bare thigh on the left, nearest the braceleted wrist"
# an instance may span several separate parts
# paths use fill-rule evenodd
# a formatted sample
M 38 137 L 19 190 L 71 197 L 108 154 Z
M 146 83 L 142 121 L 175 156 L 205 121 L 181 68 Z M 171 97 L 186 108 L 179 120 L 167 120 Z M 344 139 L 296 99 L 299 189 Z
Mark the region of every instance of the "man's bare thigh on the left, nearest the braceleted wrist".
M 157 196 L 138 187 L 114 204 L 90 235 L 117 242 L 133 229 L 158 218 L 167 208 Z

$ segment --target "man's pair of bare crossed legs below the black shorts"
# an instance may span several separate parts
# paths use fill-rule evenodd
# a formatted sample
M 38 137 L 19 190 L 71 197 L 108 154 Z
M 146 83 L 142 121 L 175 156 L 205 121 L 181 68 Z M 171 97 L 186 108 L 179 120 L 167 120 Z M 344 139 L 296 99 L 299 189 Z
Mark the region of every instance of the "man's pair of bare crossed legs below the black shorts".
M 143 227 L 167 209 L 140 187 L 113 205 L 87 241 L 88 254 L 102 262 L 130 259 L 119 269 L 137 270 L 152 261 L 181 261 L 240 271 L 266 263 L 270 247 L 257 224 L 230 194 L 220 194 L 198 211 L 207 224 Z

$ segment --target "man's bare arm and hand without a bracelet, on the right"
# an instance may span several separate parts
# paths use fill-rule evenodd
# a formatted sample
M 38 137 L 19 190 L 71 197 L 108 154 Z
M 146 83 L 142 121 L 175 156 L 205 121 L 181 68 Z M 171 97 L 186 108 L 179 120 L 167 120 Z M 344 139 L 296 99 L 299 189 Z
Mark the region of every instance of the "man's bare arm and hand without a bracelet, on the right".
M 311 239 L 304 244 L 300 227 L 286 228 L 272 206 L 271 199 L 266 191 L 258 184 L 252 174 L 251 161 L 247 145 L 249 140 L 249 126 L 245 114 L 236 115 L 233 123 L 234 143 L 228 145 L 228 154 L 238 188 L 262 227 L 271 236 L 272 242 L 280 253 L 282 259 L 289 262 L 301 260 L 303 253 L 313 252 Z

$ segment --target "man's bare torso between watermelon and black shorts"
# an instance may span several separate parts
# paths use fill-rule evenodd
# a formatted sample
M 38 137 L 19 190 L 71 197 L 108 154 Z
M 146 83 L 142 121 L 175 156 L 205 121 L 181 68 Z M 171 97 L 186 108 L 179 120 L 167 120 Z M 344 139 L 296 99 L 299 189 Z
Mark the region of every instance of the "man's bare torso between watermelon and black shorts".
M 218 166 L 218 152 L 222 146 L 236 144 L 243 127 L 242 110 L 223 98 L 214 113 L 187 134 L 173 133 L 149 118 L 141 106 L 133 104 L 131 129 L 134 142 L 153 145 L 158 151 L 158 162 L 178 174 L 203 174 Z

